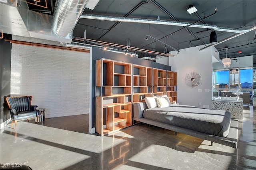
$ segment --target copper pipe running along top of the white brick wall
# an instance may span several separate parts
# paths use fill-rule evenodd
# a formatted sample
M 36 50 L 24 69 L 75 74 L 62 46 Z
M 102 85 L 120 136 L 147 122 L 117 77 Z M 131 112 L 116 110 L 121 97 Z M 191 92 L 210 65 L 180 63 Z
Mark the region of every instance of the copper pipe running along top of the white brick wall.
M 62 46 L 57 46 L 57 45 L 31 43 L 31 42 L 17 41 L 17 40 L 11 40 L 11 39 L 4 39 L 4 41 L 8 41 L 10 43 L 20 44 L 20 45 L 29 45 L 29 46 L 35 46 L 35 47 L 45 47 L 45 48 L 50 48 L 50 49 L 61 49 L 61 50 L 68 50 L 68 51 L 79 51 L 79 52 L 84 52 L 84 53 L 90 53 L 90 50 L 76 49 L 76 48 L 71 48 L 71 47 L 62 47 Z

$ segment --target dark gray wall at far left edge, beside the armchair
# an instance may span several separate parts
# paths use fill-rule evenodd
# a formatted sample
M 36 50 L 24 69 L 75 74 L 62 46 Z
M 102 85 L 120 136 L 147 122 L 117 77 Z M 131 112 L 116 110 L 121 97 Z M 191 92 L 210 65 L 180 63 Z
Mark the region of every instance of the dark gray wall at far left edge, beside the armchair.
M 4 98 L 10 96 L 11 92 L 11 50 L 12 45 L 10 42 L 4 41 L 4 39 L 10 35 L 4 34 L 4 38 L 0 39 L 0 124 L 1 128 L 4 125 L 3 122 L 10 119 L 10 112 L 8 107 L 4 104 Z

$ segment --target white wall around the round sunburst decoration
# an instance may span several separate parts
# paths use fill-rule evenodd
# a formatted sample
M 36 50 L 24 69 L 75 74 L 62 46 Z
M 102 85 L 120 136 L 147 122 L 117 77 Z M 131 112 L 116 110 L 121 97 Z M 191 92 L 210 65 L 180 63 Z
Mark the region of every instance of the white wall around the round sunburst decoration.
M 184 105 L 212 108 L 212 56 L 211 48 L 199 51 L 204 45 L 170 52 L 177 57 L 169 57 L 172 71 L 177 72 L 177 102 Z M 202 81 L 199 86 L 190 88 L 185 84 L 189 72 L 200 74 Z

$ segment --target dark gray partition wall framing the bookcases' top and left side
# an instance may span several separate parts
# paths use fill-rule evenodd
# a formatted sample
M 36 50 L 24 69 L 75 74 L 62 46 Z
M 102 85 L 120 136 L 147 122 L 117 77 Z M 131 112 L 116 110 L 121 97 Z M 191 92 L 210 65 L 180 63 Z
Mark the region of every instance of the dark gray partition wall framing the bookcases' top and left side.
M 155 63 L 148 60 L 129 57 L 128 55 L 113 53 L 102 49 L 92 48 L 92 127 L 95 127 L 95 61 L 100 59 L 111 59 L 122 61 L 126 63 L 138 64 L 148 67 L 160 68 L 164 70 L 171 70 L 171 67 L 164 64 Z

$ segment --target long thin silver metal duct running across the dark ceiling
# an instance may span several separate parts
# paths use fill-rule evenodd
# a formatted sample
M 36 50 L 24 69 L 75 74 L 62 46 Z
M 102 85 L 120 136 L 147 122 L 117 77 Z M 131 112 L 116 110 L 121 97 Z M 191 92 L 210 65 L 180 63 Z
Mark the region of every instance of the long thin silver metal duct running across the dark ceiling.
M 178 22 L 178 21 L 166 21 L 166 20 L 149 20 L 149 19 L 141 19 L 141 18 L 124 18 L 124 17 L 113 17 L 113 16 L 99 16 L 99 15 L 91 15 L 91 14 L 82 14 L 80 18 L 84 19 L 92 19 L 92 20 L 104 20 L 104 21 L 116 21 L 116 22 L 133 22 L 133 23 L 151 23 L 151 24 L 161 24 L 161 25 L 174 25 L 174 26 L 182 26 L 186 27 L 192 23 L 190 22 Z M 194 23 L 189 27 L 197 27 L 197 28 L 208 28 L 214 29 L 216 31 L 224 31 L 224 32 L 232 32 L 232 33 L 243 33 L 248 32 L 249 29 L 234 29 L 234 28 L 226 28 L 226 27 L 217 27 L 216 25 L 210 24 L 201 24 Z

